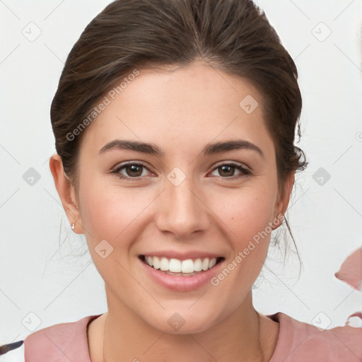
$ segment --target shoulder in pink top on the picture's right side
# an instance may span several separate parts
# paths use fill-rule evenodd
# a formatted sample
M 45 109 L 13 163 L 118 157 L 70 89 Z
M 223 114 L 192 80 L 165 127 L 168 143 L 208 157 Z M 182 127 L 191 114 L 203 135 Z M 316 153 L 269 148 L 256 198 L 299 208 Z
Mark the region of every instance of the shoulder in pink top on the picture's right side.
M 321 329 L 280 312 L 267 317 L 280 325 L 269 362 L 362 361 L 362 328 L 344 325 Z

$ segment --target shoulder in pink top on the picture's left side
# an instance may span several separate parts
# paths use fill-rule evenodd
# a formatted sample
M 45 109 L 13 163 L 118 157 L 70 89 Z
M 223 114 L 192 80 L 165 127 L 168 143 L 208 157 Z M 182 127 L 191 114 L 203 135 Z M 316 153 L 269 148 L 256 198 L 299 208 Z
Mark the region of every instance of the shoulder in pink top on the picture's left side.
M 66 322 L 40 329 L 24 340 L 25 361 L 90 362 L 87 327 L 100 315 L 88 315 L 76 322 Z

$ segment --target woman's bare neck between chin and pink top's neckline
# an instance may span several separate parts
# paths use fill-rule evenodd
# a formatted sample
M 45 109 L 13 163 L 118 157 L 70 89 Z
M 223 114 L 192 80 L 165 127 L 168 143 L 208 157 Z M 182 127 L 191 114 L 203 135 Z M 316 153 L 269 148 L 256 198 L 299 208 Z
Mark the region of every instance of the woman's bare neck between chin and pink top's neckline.
M 117 308 L 115 308 L 117 306 Z M 124 305 L 108 305 L 103 362 L 264 362 L 259 315 L 251 291 L 242 305 L 202 332 L 170 334 L 148 325 Z M 122 357 L 120 357 L 122 356 Z M 121 359 L 122 358 L 122 359 Z

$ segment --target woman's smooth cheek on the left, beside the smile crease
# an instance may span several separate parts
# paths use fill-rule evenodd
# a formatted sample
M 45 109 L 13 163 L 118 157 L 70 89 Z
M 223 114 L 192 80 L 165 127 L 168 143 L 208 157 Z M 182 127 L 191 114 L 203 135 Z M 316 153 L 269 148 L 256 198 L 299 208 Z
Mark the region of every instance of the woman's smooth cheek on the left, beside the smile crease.
M 101 178 L 101 177 L 100 177 Z M 127 265 L 132 240 L 137 238 L 135 219 L 145 208 L 139 198 L 120 187 L 110 187 L 105 180 L 83 183 L 79 190 L 79 202 L 83 230 L 88 250 L 96 269 L 104 281 L 117 288 L 119 280 L 127 288 L 127 273 L 122 265 Z

